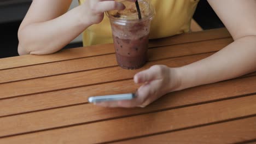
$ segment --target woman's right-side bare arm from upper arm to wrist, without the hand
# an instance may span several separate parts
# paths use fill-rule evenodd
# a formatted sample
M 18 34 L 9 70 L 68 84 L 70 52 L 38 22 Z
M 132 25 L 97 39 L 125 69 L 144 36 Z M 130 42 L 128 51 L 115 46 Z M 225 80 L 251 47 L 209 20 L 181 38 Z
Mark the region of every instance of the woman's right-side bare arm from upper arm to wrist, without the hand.
M 232 79 L 256 70 L 256 1 L 208 2 L 234 42 L 208 58 L 180 68 L 181 87 L 178 89 Z

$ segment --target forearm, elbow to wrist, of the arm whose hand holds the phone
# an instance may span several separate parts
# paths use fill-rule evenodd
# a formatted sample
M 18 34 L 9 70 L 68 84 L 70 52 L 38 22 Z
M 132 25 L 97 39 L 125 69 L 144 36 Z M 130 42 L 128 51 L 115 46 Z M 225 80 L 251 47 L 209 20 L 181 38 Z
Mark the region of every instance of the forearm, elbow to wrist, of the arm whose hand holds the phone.
M 181 83 L 177 90 L 232 79 L 255 70 L 256 35 L 251 35 L 235 40 L 210 57 L 178 68 Z

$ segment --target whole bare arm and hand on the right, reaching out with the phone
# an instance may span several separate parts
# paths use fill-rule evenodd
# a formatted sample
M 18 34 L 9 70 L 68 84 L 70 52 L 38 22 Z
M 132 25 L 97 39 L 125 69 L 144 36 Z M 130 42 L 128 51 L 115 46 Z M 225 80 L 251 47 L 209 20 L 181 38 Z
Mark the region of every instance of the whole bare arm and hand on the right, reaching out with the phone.
M 150 69 L 143 70 L 134 76 L 135 83 L 143 83 L 135 99 L 97 105 L 144 107 L 169 92 L 232 79 L 255 71 L 256 1 L 208 1 L 234 38 L 233 43 L 210 57 L 181 68 L 154 65 Z

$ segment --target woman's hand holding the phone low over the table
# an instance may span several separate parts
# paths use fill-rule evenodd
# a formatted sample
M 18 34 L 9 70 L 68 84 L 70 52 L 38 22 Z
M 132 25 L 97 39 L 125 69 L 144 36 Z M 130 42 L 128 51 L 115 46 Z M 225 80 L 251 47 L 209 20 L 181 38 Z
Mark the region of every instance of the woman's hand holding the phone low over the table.
M 136 98 L 123 101 L 96 103 L 104 107 L 145 107 L 166 93 L 176 91 L 180 85 L 178 68 L 165 65 L 154 65 L 134 76 L 135 83 L 143 83 L 139 87 Z

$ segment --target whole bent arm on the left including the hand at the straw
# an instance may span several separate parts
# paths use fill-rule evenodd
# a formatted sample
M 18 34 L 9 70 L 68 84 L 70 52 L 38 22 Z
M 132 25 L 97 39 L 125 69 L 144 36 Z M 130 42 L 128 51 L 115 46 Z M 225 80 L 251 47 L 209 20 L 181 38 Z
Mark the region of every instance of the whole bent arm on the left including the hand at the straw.
M 34 0 L 18 32 L 20 55 L 44 55 L 59 51 L 111 9 L 124 9 L 113 0 L 86 0 L 67 11 L 72 0 Z

